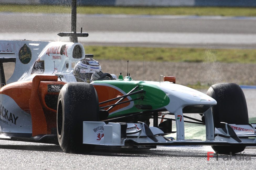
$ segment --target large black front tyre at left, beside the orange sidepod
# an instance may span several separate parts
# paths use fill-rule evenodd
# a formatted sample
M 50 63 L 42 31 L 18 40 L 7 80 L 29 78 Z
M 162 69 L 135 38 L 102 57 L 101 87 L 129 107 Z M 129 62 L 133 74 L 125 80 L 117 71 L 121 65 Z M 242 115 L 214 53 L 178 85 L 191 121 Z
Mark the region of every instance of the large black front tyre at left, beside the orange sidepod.
M 96 90 L 89 83 L 67 83 L 60 90 L 57 107 L 57 136 L 64 152 L 84 153 L 95 148 L 83 144 L 83 121 L 99 121 Z

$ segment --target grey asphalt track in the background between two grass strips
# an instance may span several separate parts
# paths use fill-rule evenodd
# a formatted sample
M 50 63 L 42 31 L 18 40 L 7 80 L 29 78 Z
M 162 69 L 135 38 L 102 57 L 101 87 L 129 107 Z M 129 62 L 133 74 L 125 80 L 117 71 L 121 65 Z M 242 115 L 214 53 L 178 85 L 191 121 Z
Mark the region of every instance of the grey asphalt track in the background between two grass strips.
M 0 13 L 0 39 L 69 41 L 69 14 Z M 141 47 L 256 47 L 255 17 L 77 15 L 86 45 Z

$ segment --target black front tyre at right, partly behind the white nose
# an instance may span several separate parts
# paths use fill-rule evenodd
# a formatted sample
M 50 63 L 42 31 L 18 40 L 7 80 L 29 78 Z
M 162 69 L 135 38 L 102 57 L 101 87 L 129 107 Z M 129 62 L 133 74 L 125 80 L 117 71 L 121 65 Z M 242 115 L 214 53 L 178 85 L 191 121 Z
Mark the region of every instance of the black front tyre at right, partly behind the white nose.
M 240 86 L 235 83 L 220 83 L 212 85 L 207 95 L 217 101 L 212 107 L 214 126 L 219 128 L 220 122 L 229 124 L 249 123 L 247 104 Z M 219 154 L 242 152 L 245 146 L 211 146 Z

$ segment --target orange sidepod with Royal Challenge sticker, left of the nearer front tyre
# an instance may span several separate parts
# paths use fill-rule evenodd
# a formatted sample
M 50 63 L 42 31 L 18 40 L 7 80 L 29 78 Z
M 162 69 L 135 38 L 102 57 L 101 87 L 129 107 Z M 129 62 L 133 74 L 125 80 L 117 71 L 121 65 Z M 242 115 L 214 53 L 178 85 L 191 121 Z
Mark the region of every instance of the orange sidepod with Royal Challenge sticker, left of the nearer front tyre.
M 56 107 L 64 84 L 57 76 L 35 76 L 33 81 L 7 84 L 0 89 L 0 94 L 8 95 L 31 114 L 32 136 L 51 134 L 52 128 L 56 128 Z

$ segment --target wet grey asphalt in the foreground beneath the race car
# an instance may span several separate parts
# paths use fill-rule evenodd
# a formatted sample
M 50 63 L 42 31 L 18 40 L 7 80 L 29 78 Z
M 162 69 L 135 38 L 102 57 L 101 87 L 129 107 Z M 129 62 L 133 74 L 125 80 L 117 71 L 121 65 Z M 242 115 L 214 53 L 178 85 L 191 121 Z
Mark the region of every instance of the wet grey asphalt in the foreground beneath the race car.
M 253 169 L 256 164 L 255 149 L 245 149 L 244 160 L 237 154 L 228 158 L 218 155 L 217 161 L 215 154 L 207 161 L 207 152 L 213 151 L 210 146 L 98 148 L 91 154 L 79 155 L 63 153 L 57 145 L 1 141 L 0 149 L 1 169 Z M 239 157 L 241 160 L 236 160 Z

